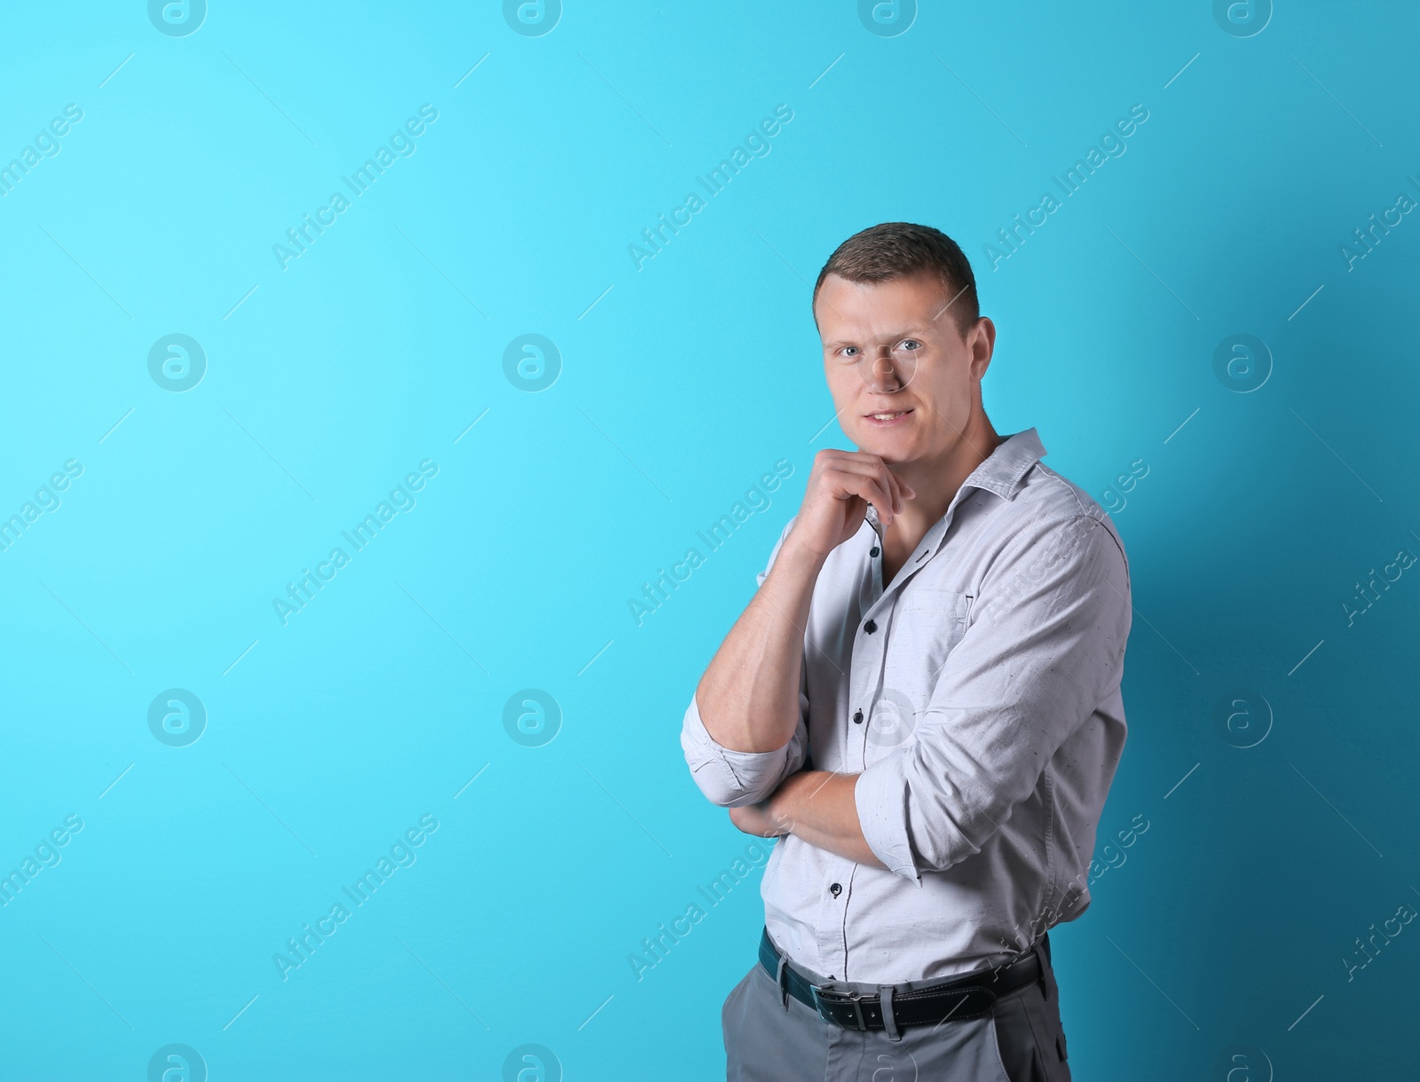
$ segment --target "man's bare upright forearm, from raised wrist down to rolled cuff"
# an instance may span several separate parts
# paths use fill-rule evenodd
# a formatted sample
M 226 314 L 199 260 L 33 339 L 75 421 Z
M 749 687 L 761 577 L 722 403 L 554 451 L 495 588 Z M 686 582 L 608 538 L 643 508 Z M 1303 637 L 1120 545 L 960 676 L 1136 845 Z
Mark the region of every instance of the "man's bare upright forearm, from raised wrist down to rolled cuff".
M 785 538 L 764 584 L 700 677 L 700 720 L 731 751 L 777 751 L 794 736 L 804 623 L 822 567 L 821 557 Z

